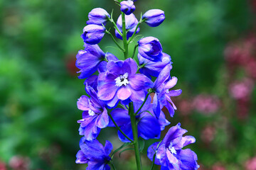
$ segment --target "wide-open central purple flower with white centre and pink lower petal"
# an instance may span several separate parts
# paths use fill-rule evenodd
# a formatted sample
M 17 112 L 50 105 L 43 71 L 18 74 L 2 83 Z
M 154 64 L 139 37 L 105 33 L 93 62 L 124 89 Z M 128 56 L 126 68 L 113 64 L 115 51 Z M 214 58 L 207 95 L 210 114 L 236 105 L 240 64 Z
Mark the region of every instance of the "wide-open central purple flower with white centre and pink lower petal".
M 114 107 L 119 100 L 144 101 L 147 89 L 153 83 L 144 74 L 136 74 L 137 69 L 137 63 L 131 58 L 108 62 L 107 72 L 100 73 L 98 78 L 97 95 L 100 100 L 110 107 Z

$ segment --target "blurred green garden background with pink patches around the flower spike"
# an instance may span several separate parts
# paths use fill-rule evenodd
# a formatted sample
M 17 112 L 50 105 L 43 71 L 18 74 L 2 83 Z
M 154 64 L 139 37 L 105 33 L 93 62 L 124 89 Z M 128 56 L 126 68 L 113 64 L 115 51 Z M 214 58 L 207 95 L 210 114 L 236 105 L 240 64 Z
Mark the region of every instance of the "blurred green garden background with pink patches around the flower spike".
M 161 26 L 143 24 L 139 35 L 159 38 L 172 57 L 171 75 L 183 94 L 168 119 L 196 137 L 189 147 L 200 169 L 255 170 L 256 1 L 138 0 L 136 6 L 138 19 L 151 8 L 165 11 Z M 76 101 L 85 94 L 75 55 L 87 13 L 96 7 L 119 16 L 112 0 L 0 0 L 1 170 L 85 169 L 75 164 L 82 113 Z M 100 47 L 122 58 L 110 36 Z M 122 145 L 113 128 L 102 130 L 105 140 Z M 117 169 L 136 169 L 132 151 L 114 158 Z

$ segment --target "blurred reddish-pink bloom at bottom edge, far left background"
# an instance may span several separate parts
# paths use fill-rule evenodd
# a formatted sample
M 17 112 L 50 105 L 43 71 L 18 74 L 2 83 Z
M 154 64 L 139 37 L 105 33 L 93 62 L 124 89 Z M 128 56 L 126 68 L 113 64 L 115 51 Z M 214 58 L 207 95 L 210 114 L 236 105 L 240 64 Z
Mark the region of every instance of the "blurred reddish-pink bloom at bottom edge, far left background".
M 9 161 L 9 166 L 14 170 L 28 170 L 30 159 L 28 157 L 14 156 Z

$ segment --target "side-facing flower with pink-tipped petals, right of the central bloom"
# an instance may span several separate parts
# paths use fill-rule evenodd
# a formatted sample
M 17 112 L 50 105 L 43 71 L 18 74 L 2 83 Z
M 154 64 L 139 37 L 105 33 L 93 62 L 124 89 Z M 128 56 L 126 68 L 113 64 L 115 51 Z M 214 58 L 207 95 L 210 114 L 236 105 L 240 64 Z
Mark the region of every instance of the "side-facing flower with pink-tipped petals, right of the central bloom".
M 166 106 L 171 117 L 174 116 L 174 110 L 176 110 L 176 106 L 174 102 L 171 101 L 171 96 L 179 96 L 182 92 L 181 89 L 171 90 L 176 84 L 178 79 L 176 77 L 170 77 L 171 64 L 166 65 L 164 69 L 160 72 L 159 77 L 157 77 L 156 81 L 154 81 L 154 91 L 155 95 L 153 98 L 153 110 L 156 117 L 159 116 L 161 108 Z

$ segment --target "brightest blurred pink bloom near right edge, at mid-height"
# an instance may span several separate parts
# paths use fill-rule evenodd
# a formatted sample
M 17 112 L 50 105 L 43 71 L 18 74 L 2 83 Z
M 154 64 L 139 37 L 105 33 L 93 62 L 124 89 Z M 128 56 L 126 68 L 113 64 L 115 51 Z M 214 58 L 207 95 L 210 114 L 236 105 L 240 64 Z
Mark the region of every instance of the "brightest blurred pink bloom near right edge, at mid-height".
M 230 95 L 237 100 L 249 100 L 250 94 L 254 88 L 252 79 L 244 78 L 242 81 L 236 81 L 230 85 Z

